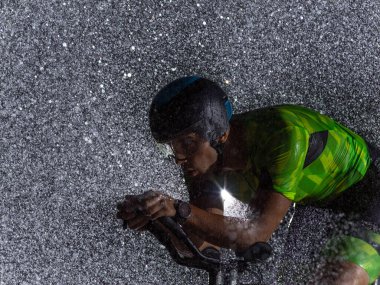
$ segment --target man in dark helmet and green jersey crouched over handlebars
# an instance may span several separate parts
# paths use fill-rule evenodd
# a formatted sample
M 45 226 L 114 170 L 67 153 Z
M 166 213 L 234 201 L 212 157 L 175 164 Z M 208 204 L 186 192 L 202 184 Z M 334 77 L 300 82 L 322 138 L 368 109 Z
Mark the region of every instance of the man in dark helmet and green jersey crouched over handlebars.
M 149 191 L 127 196 L 118 217 L 135 230 L 174 217 L 201 250 L 211 252 L 225 247 L 239 253 L 268 241 L 293 202 L 333 204 L 343 192 L 354 191 L 347 189 L 371 165 L 366 142 L 331 118 L 296 105 L 232 115 L 224 91 L 198 76 L 160 90 L 151 105 L 150 128 L 182 167 L 190 202 Z M 249 204 L 253 217 L 223 216 L 221 189 Z M 371 225 L 379 223 L 376 205 L 361 215 Z M 332 262 L 341 271 L 325 274 L 324 282 L 373 282 L 380 275 L 379 239 L 367 230 L 335 239 L 339 252 Z

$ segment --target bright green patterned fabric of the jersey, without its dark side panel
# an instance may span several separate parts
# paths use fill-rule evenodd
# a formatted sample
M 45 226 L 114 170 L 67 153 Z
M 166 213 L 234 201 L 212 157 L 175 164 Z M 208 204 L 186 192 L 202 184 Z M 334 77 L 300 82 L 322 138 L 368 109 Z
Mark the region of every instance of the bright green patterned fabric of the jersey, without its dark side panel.
M 361 180 L 370 165 L 364 140 L 329 117 L 296 105 L 257 109 L 233 117 L 246 127 L 250 160 L 242 171 L 224 173 L 217 183 L 249 203 L 262 171 L 273 188 L 292 201 L 321 202 Z M 323 152 L 303 167 L 312 133 L 328 131 Z

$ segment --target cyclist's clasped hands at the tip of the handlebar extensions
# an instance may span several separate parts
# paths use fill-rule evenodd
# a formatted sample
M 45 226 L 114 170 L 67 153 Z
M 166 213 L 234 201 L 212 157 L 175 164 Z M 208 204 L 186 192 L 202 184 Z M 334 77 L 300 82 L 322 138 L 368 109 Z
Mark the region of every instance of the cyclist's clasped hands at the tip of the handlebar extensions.
M 172 217 L 176 213 L 174 199 L 158 191 L 127 195 L 117 208 L 117 217 L 123 219 L 133 230 L 141 230 L 149 221 L 164 216 Z

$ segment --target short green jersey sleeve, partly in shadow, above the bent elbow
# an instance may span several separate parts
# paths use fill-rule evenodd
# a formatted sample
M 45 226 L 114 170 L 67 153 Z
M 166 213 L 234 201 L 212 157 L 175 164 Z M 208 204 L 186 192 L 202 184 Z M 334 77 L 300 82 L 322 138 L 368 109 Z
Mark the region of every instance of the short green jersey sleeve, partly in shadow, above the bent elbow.
M 309 144 L 309 134 L 289 126 L 274 132 L 257 149 L 256 167 L 269 173 L 273 189 L 295 201 Z

